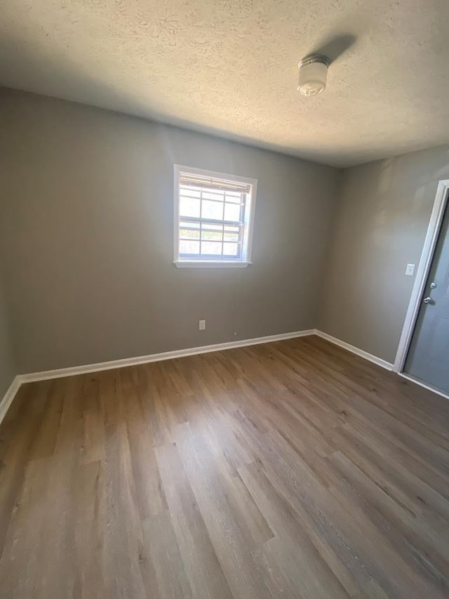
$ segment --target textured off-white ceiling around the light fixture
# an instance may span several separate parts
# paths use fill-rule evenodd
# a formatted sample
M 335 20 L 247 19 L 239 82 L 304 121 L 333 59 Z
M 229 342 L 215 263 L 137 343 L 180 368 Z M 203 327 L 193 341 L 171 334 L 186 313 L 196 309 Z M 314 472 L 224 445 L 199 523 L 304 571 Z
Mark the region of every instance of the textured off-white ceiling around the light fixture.
M 448 23 L 449 0 L 2 0 L 0 84 L 348 166 L 449 142 Z

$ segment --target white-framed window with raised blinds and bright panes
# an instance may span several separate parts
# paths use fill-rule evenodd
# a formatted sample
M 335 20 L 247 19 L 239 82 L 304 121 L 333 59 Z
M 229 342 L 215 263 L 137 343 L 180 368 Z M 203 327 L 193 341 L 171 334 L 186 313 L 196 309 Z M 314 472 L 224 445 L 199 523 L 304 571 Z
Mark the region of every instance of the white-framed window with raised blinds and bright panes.
M 175 265 L 250 264 L 257 181 L 175 165 Z

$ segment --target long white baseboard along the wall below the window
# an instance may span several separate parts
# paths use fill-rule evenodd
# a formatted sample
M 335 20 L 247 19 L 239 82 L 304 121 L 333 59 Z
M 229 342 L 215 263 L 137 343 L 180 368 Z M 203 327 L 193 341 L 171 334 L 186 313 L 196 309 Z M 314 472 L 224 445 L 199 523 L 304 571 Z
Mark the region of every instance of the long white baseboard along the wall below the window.
M 266 337 L 255 337 L 253 339 L 241 339 L 239 341 L 228 341 L 227 343 L 215 343 L 213 345 L 202 345 L 199 348 L 187 348 L 185 350 L 173 350 L 138 357 L 124 358 L 123 360 L 111 360 L 110 362 L 98 362 L 97 364 L 85 364 L 83 366 L 74 366 L 69 368 L 59 368 L 55 370 L 44 370 L 41 372 L 30 372 L 29 374 L 20 374 L 22 383 L 31 383 L 34 381 L 46 381 L 47 379 L 60 379 L 63 376 L 74 376 L 75 374 L 87 374 L 89 372 L 98 372 L 100 370 L 112 370 L 126 366 L 135 366 L 136 364 L 147 364 L 149 362 L 161 362 L 161 360 L 173 360 L 176 357 L 185 357 L 188 355 L 197 355 L 202 353 L 217 352 L 220 350 L 230 350 L 233 348 L 242 348 L 246 345 L 258 345 L 259 343 L 270 343 L 272 341 L 282 341 L 295 337 L 304 337 L 314 335 L 315 329 L 307 331 L 294 331 L 293 333 L 281 333 L 279 335 L 268 335 Z

